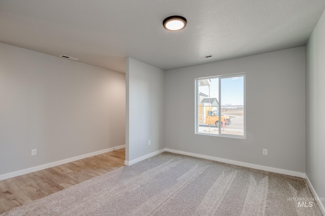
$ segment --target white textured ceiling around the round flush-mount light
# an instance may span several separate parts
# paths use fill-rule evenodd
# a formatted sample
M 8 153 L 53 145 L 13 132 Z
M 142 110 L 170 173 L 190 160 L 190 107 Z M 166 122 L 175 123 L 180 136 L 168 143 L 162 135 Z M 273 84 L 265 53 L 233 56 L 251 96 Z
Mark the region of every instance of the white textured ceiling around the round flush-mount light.
M 0 0 L 0 42 L 119 72 L 125 57 L 169 70 L 303 46 L 324 9 L 324 0 Z M 186 28 L 164 29 L 171 15 Z

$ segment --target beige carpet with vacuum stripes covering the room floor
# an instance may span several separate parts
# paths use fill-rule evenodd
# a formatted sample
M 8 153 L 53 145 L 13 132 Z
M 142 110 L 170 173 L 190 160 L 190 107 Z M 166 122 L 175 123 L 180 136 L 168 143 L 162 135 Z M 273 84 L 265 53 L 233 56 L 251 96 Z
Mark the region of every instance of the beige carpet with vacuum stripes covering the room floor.
M 165 152 L 4 215 L 322 214 L 304 179 Z

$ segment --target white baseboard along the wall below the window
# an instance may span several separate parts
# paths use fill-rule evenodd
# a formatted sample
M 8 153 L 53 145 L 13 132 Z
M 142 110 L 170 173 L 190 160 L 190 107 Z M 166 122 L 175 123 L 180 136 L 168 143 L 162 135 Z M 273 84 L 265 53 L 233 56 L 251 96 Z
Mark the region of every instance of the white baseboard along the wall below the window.
M 264 171 L 276 172 L 278 174 L 296 176 L 296 177 L 300 177 L 300 178 L 305 178 L 305 176 L 306 176 L 303 172 L 296 172 L 296 171 L 290 171 L 290 170 L 286 170 L 286 169 L 273 168 L 273 167 L 269 167 L 269 166 L 256 165 L 256 164 L 252 164 L 252 163 L 245 163 L 245 162 L 240 162 L 240 161 L 236 161 L 236 160 L 229 160 L 229 159 L 223 159 L 223 158 L 219 158 L 219 157 L 212 157 L 212 156 L 207 156 L 207 155 L 202 155 L 202 154 L 178 151 L 178 150 L 174 150 L 174 149 L 166 148 L 165 151 L 177 153 L 177 154 L 188 155 L 188 156 L 193 156 L 193 157 L 204 158 L 204 159 L 208 159 L 208 160 L 219 161 L 219 162 L 223 162 L 223 163 L 230 163 L 230 164 L 234 164 L 234 165 L 238 165 L 238 166 L 245 166 L 245 167 L 249 167 L 249 168 L 260 169 L 260 170 L 264 170 Z

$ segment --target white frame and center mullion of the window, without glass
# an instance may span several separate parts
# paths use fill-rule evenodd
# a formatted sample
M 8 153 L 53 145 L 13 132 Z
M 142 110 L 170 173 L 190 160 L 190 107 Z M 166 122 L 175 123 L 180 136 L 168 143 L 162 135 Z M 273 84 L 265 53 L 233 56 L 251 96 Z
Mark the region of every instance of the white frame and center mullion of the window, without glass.
M 218 110 L 219 110 L 219 119 L 221 119 L 221 79 L 223 78 L 231 78 L 231 77 L 238 77 L 243 76 L 244 77 L 244 135 L 230 135 L 230 134 L 221 134 L 221 123 L 219 121 L 219 127 L 218 127 L 218 134 L 208 134 L 208 133 L 199 133 L 199 81 L 202 79 L 211 79 L 211 78 L 219 78 L 218 83 L 218 94 L 219 94 L 219 104 L 218 104 Z M 230 137 L 230 138 L 239 138 L 239 139 L 246 139 L 246 73 L 234 73 L 234 74 L 227 74 L 227 75 L 217 75 L 217 76 L 208 76 L 208 77 L 200 77 L 195 79 L 195 134 L 198 135 L 208 135 L 208 136 L 215 136 L 215 137 Z

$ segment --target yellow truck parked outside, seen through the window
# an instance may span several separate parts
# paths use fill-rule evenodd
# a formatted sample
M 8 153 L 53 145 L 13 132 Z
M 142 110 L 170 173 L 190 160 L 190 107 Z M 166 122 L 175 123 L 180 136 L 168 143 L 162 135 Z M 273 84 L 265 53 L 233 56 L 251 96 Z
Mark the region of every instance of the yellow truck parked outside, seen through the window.
M 222 123 L 225 125 L 230 125 L 231 120 L 229 116 L 221 114 L 221 126 Z M 199 124 L 214 124 L 219 127 L 219 112 L 218 110 L 211 110 L 210 106 L 200 106 L 199 107 Z

